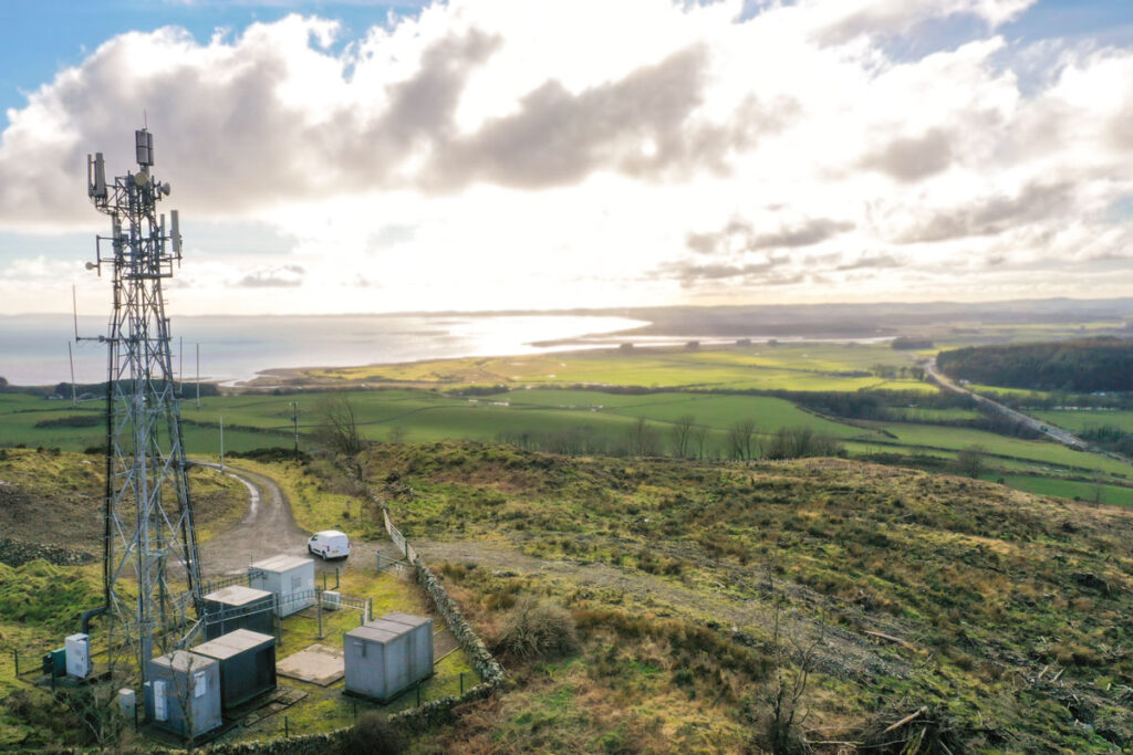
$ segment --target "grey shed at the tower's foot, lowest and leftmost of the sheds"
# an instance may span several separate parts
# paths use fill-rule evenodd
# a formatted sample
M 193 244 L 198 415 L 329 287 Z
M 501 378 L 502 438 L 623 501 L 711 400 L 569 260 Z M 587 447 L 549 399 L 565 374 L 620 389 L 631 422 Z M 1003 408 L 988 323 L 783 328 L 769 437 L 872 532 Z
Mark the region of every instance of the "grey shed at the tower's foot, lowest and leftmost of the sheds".
M 143 690 L 146 719 L 189 739 L 212 731 L 220 715 L 220 663 L 186 650 L 150 661 Z

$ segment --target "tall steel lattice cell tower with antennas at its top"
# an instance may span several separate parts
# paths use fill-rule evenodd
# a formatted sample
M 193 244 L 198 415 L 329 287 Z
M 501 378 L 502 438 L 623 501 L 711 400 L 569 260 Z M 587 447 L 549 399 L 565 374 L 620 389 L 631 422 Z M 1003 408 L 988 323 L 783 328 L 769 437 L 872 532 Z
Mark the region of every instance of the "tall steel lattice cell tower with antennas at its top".
M 107 182 L 102 153 L 87 156 L 87 194 L 110 215 L 88 269 L 113 272 L 107 336 L 107 489 L 103 589 L 111 674 L 133 654 L 146 663 L 184 646 L 201 615 L 201 575 L 186 479 L 162 281 L 180 266 L 177 211 L 157 215 L 169 183 L 150 174 L 153 135 L 135 131 L 138 170 Z M 154 651 L 157 651 L 156 653 Z

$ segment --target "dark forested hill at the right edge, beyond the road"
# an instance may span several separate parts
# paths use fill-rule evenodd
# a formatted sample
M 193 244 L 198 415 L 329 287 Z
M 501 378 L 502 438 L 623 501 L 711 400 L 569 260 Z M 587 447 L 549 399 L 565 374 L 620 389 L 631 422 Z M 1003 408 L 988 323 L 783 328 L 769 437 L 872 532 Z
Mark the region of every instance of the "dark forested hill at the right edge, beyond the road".
M 1032 391 L 1133 391 L 1133 341 L 969 346 L 944 351 L 937 366 L 957 380 Z

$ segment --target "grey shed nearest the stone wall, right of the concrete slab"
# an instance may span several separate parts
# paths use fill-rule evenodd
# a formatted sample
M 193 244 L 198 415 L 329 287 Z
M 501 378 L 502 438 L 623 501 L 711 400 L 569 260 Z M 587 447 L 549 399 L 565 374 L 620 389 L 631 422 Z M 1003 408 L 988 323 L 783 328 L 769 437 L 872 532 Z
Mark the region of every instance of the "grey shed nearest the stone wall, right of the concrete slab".
M 383 703 L 433 676 L 433 619 L 397 615 L 410 623 L 387 616 L 343 638 L 347 693 Z

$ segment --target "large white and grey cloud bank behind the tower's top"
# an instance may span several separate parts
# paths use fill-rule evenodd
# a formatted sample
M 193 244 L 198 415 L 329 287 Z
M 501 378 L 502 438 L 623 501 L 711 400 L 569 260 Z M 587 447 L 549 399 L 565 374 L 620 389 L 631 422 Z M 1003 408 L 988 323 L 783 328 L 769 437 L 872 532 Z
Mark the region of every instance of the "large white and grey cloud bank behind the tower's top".
M 123 171 L 134 126 L 123 114 L 143 110 L 157 172 L 176 168 L 178 204 L 208 216 L 361 191 L 723 173 L 732 152 L 792 112 L 789 97 L 749 94 L 702 117 L 708 54 L 692 43 L 577 89 L 548 76 L 514 92 L 509 112 L 462 128 L 470 79 L 504 45 L 468 15 L 437 6 L 340 55 L 325 49 L 335 24 L 296 15 L 204 45 L 176 27 L 113 37 L 10 114 L 0 225 L 90 222 L 86 154 L 105 151 L 110 172 Z

